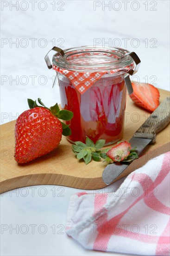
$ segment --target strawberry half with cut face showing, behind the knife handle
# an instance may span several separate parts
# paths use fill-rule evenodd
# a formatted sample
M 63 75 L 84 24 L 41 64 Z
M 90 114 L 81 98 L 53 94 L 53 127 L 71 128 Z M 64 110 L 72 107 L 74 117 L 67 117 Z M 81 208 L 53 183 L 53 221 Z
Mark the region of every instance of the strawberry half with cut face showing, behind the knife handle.
M 153 112 L 159 106 L 159 91 L 151 84 L 132 82 L 133 93 L 130 98 L 142 108 Z

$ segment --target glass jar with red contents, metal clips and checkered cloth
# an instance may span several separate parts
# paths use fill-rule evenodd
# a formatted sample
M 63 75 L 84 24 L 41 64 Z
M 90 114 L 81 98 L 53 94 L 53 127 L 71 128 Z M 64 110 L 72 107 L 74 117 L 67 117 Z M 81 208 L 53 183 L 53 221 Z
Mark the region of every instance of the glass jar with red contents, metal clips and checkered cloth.
M 70 142 L 94 143 L 105 139 L 106 145 L 123 135 L 126 87 L 132 94 L 129 75 L 138 71 L 137 54 L 122 48 L 76 47 L 62 50 L 53 47 L 53 65 L 48 54 L 45 61 L 57 72 L 61 107 L 73 111 Z M 135 64 L 134 64 L 135 63 Z M 135 66 L 135 69 L 134 69 Z M 126 84 L 126 86 L 125 86 Z

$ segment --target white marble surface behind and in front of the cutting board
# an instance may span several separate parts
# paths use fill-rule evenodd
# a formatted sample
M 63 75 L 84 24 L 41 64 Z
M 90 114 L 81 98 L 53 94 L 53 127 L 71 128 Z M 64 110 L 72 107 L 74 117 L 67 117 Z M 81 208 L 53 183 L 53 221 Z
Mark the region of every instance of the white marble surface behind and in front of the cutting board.
M 107 7 L 108 4 L 111 6 Z M 40 97 L 47 105 L 60 102 L 57 85 L 52 89 L 55 72 L 48 70 L 44 61 L 45 54 L 54 45 L 67 48 L 101 42 L 101 45 L 127 48 L 141 59 L 138 77 L 134 80 L 148 81 L 166 90 L 170 88 L 169 0 L 1 0 L 0 5 L 0 124 L 16 119 L 27 109 L 27 98 Z M 41 196 L 41 192 L 44 194 L 42 187 L 47 193 L 45 196 Z M 9 227 L 1 234 L 0 255 L 104 255 L 85 250 L 64 230 L 64 234 L 57 234 L 65 226 L 69 197 L 78 190 L 42 187 L 36 187 L 34 196 L 32 189 L 27 188 L 0 197 L 0 222 L 7 225 L 6 229 Z M 61 189 L 63 197 L 57 196 Z M 27 225 L 28 233 L 22 234 L 23 228 L 16 234 L 12 228 L 17 224 L 19 227 Z M 37 225 L 35 234 L 32 234 L 31 224 Z M 41 224 L 46 225 L 46 234 L 40 234 L 43 228 L 38 232 Z M 50 228 L 52 225 L 56 227 L 55 234 Z

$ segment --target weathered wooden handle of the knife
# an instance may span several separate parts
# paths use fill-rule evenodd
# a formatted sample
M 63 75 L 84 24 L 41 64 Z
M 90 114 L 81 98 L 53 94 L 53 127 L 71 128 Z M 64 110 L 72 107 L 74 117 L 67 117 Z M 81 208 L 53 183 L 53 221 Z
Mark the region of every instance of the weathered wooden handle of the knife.
M 148 119 L 139 127 L 133 137 L 151 139 L 151 143 L 156 140 L 156 134 L 162 131 L 170 122 L 170 97 L 155 109 Z

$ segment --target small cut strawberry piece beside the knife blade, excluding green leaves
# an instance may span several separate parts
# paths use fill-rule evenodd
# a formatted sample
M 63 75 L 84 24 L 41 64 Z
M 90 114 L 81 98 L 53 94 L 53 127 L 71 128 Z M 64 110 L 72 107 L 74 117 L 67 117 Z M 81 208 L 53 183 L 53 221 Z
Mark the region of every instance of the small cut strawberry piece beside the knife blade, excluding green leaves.
M 115 147 L 111 148 L 106 155 L 110 157 L 113 162 L 120 162 L 130 154 L 131 148 L 131 143 L 128 141 L 122 141 Z

